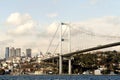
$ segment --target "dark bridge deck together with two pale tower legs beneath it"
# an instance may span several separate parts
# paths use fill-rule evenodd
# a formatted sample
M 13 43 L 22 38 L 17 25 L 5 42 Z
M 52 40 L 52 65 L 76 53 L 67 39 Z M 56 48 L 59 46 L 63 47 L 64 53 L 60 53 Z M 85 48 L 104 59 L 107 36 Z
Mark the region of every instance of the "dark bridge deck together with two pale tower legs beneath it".
M 115 42 L 115 43 L 106 44 L 106 45 L 100 45 L 100 46 L 96 46 L 96 47 L 92 47 L 92 48 L 88 48 L 88 49 L 83 49 L 83 50 L 79 50 L 79 51 L 75 51 L 75 52 L 71 52 L 71 53 L 67 53 L 67 54 L 62 54 L 62 55 L 58 55 L 58 56 L 49 57 L 49 58 L 43 59 L 43 61 L 59 59 L 60 56 L 61 57 L 66 57 L 68 59 L 68 73 L 69 73 L 69 75 L 71 75 L 71 69 L 72 69 L 71 59 L 72 59 L 73 55 L 80 54 L 80 53 L 83 53 L 83 52 L 88 52 L 88 51 L 94 51 L 94 50 L 114 47 L 114 46 L 118 46 L 118 45 L 120 45 L 120 42 Z M 59 63 L 59 74 L 62 74 L 62 64 L 60 64 L 60 63 Z

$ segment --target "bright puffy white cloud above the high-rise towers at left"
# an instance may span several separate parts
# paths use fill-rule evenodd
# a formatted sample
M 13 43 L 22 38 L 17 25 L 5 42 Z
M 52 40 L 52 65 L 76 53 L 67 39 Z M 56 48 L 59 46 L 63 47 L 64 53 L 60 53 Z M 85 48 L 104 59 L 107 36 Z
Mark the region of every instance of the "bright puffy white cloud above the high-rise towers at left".
M 7 24 L 15 26 L 8 31 L 12 36 L 33 34 L 37 22 L 29 14 L 12 13 L 6 21 Z

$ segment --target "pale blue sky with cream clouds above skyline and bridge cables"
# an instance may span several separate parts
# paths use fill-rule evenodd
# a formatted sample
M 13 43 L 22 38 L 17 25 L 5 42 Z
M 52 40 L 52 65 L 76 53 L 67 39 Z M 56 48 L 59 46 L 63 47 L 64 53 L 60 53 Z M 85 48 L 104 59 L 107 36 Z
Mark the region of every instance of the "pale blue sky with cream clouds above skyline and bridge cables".
M 69 22 L 77 30 L 119 37 L 119 3 L 120 0 L 0 0 L 0 55 L 4 57 L 6 46 L 21 47 L 23 51 L 32 48 L 33 55 L 46 52 L 60 22 Z

